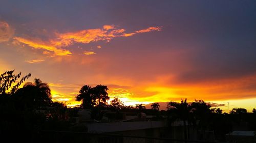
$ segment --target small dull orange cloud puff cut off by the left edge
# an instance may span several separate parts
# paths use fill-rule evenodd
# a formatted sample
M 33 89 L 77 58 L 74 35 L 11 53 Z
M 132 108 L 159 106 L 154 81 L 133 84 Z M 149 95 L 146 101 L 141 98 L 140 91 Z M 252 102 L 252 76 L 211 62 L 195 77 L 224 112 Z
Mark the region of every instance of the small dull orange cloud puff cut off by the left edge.
M 5 21 L 0 21 L 0 43 L 7 42 L 13 36 L 14 30 Z

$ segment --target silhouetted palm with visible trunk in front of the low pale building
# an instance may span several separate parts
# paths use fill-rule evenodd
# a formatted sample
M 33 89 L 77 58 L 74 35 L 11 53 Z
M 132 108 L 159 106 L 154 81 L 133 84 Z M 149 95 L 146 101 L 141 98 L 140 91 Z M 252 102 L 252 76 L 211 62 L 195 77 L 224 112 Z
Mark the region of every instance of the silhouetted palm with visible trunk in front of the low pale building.
M 190 112 L 190 105 L 187 103 L 187 99 L 183 101 L 181 99 L 181 102 L 173 102 L 170 101 L 167 104 L 167 109 L 170 115 L 172 115 L 175 119 L 179 118 L 183 121 L 183 127 L 184 127 L 184 139 L 185 142 L 187 142 L 187 128 L 186 128 L 186 121 L 188 120 L 189 112 Z

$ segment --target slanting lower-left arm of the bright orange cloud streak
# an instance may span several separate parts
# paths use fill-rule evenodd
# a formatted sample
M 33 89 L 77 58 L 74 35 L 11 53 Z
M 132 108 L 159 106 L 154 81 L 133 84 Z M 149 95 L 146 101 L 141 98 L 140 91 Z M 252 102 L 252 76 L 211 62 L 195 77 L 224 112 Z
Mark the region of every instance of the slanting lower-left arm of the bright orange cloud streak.
M 15 40 L 17 40 L 20 43 L 24 43 L 29 45 L 30 47 L 33 47 L 35 49 L 45 49 L 48 51 L 54 52 L 54 55 L 69 55 L 72 54 L 69 50 L 57 48 L 53 45 L 47 45 L 44 42 L 41 41 L 32 41 L 21 37 L 14 37 Z M 44 52 L 45 54 L 46 52 Z

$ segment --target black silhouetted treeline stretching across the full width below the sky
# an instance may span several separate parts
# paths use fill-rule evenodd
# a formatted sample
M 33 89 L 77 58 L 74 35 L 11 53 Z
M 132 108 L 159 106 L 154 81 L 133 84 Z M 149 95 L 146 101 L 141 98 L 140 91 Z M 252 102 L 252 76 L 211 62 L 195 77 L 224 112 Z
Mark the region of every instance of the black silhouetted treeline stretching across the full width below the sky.
M 108 100 L 108 87 L 84 85 L 75 96 L 81 105 L 68 108 L 65 103 L 53 102 L 49 85 L 35 78 L 34 82 L 27 82 L 19 88 L 31 74 L 21 77 L 21 73 L 14 74 L 7 71 L 0 76 L 0 135 L 20 131 L 36 132 L 41 130 L 71 130 L 86 131 L 76 128 L 71 124 L 71 117 L 78 116 L 79 109 L 90 109 L 91 119 L 100 121 L 105 115 L 105 110 L 117 113 L 144 112 L 153 115 L 156 120 L 166 120 L 171 125 L 174 121 L 181 121 L 184 125 L 184 138 L 189 139 L 189 128 L 207 128 L 214 130 L 216 136 L 225 138 L 224 135 L 232 131 L 234 126 L 247 123 L 250 130 L 256 130 L 256 111 L 247 113 L 244 108 L 234 108 L 228 113 L 223 113 L 220 108 L 211 108 L 203 100 L 188 103 L 168 102 L 166 109 L 159 111 L 160 105 L 152 103 L 151 109 L 146 109 L 143 104 L 125 106 L 115 97 L 110 104 Z M 110 118 L 110 117 L 109 117 Z M 115 118 L 118 118 L 116 116 Z M 121 117 L 120 117 L 121 118 Z

